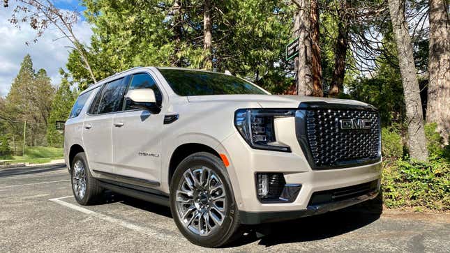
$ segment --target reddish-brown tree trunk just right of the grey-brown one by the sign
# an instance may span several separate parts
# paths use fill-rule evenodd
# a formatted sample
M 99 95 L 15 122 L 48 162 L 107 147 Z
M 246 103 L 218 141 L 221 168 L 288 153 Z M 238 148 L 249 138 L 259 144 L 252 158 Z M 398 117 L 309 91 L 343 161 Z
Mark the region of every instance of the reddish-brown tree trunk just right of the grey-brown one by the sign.
M 311 52 L 313 58 L 311 64 L 313 66 L 313 95 L 315 97 L 323 97 L 322 89 L 322 65 L 320 64 L 320 29 L 319 29 L 319 3 L 318 0 L 310 0 L 310 21 L 311 21 Z

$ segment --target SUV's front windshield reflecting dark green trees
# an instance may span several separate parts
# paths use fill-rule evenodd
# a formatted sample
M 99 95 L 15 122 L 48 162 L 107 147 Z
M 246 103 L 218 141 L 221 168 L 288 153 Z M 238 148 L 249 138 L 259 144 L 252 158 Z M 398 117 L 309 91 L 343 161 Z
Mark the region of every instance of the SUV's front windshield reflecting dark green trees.
M 159 69 L 159 71 L 177 95 L 267 95 L 257 86 L 232 75 L 179 69 Z

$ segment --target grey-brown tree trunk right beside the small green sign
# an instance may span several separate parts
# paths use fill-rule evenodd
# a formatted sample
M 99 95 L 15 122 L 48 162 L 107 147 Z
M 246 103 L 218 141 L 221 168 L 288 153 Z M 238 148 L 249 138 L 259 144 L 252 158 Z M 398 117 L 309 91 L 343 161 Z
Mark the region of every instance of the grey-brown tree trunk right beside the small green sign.
M 299 56 L 295 58 L 297 95 L 313 95 L 309 1 L 298 0 L 294 3 L 298 6 L 294 20 L 294 38 L 299 37 Z

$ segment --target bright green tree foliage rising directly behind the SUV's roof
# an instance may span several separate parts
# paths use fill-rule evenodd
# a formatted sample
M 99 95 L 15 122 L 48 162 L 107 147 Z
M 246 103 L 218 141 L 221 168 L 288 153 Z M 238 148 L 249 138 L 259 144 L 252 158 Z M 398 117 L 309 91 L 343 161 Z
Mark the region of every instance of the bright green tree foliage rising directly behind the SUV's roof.
M 276 93 L 292 83 L 290 66 L 281 60 L 291 38 L 289 1 L 212 4 L 213 70 L 229 70 Z M 206 68 L 202 1 L 84 0 L 84 5 L 93 24 L 88 59 L 97 79 L 135 66 Z M 67 68 L 85 89 L 89 74 L 75 50 Z

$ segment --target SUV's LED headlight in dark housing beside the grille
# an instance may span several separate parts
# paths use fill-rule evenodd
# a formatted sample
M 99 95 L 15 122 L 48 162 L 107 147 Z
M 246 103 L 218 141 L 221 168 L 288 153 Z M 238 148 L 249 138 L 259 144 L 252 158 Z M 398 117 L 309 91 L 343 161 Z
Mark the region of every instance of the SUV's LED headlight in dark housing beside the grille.
M 276 140 L 273 119 L 294 115 L 292 109 L 239 109 L 234 125 L 252 148 L 290 152 L 289 146 Z

